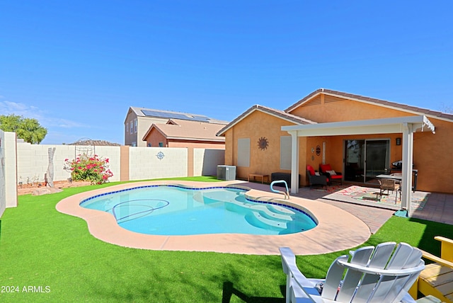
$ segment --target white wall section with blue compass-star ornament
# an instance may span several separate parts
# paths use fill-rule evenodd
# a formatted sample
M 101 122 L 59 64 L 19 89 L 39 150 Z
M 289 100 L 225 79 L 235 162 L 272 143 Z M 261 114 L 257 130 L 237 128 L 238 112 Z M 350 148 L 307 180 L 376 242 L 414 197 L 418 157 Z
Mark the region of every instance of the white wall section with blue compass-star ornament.
M 129 149 L 130 180 L 187 177 L 186 148 L 131 147 Z M 161 152 L 164 156 L 158 158 Z

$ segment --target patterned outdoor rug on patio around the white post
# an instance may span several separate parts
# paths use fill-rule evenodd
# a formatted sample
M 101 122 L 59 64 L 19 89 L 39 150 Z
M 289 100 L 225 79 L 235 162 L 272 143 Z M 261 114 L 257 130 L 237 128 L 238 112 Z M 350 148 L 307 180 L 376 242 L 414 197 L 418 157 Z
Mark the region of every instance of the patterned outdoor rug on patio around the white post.
M 399 210 L 401 209 L 401 200 L 399 193 L 398 197 L 396 193 L 396 190 L 393 193 L 390 191 L 389 195 L 383 195 L 379 199 L 379 188 L 365 188 L 352 185 L 326 195 L 323 198 Z M 411 210 L 423 210 L 423 207 L 428 201 L 429 194 L 420 191 L 412 193 Z

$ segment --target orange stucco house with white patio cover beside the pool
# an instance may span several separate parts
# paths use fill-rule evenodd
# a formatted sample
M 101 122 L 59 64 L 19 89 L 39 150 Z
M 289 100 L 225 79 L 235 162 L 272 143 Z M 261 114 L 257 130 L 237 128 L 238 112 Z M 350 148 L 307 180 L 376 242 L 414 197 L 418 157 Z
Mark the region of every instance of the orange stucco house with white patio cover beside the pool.
M 453 115 L 323 88 L 283 111 L 253 105 L 217 133 L 237 178 L 292 173 L 293 193 L 307 184 L 308 164 L 331 164 L 344 181 L 367 184 L 403 160 L 403 200 L 411 166 L 417 190 L 453 193 L 445 173 L 453 167 L 452 134 Z

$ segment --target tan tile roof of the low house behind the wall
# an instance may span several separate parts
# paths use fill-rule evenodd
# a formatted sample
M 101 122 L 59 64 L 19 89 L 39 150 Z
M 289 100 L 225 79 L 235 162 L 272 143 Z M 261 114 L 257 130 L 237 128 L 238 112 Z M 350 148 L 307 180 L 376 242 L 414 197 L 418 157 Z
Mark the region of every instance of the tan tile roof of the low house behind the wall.
M 173 124 L 174 123 L 174 124 Z M 168 120 L 166 124 L 153 124 L 144 135 L 146 140 L 152 129 L 161 132 L 167 139 L 190 139 L 202 141 L 223 142 L 225 138 L 217 137 L 217 132 L 224 127 L 224 124 L 190 121 L 190 120 Z

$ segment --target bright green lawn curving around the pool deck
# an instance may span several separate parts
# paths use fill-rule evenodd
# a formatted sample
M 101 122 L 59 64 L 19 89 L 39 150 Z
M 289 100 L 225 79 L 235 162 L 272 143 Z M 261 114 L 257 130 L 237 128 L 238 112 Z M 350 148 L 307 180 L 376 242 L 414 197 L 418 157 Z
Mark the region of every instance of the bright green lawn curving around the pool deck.
M 124 248 L 94 238 L 83 219 L 55 210 L 62 198 L 113 184 L 19 196 L 18 207 L 0 222 L 1 302 L 284 302 L 280 256 Z M 391 217 L 366 245 L 405 241 L 439 254 L 436 235 L 453 238 L 452 226 Z M 297 262 L 304 274 L 321 278 L 343 253 Z M 11 287 L 18 292 L 5 292 Z

